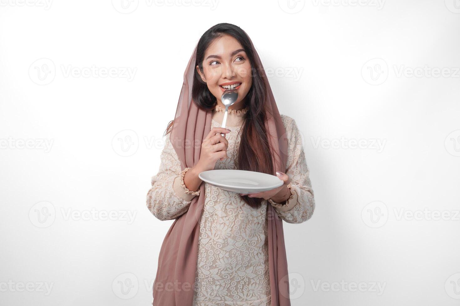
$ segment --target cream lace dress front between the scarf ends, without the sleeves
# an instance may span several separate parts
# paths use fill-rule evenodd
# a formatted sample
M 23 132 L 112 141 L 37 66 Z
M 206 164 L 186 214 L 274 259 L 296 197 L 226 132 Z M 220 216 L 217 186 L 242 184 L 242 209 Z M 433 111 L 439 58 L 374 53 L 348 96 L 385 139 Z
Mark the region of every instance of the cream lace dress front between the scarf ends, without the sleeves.
M 236 169 L 240 129 L 226 134 L 229 158 L 215 169 Z M 209 184 L 205 192 L 193 306 L 271 305 L 266 202 L 254 209 L 238 193 Z

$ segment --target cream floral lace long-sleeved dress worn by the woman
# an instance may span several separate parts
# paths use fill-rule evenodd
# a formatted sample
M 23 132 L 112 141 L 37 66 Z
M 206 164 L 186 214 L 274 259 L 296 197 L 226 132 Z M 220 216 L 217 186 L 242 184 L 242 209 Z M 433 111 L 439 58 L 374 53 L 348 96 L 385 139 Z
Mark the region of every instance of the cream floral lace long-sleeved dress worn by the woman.
M 213 110 L 212 128 L 220 127 L 224 108 Z M 214 169 L 237 169 L 242 115 L 247 109 L 229 110 L 226 134 L 229 158 L 216 162 Z M 281 115 L 288 138 L 286 173 L 291 178 L 292 195 L 285 204 L 264 200 L 251 208 L 238 193 L 205 183 L 205 204 L 200 219 L 196 284 L 193 306 L 270 306 L 268 234 L 266 205 L 273 205 L 288 223 L 308 220 L 315 208 L 309 170 L 302 139 L 295 121 Z M 147 207 L 160 220 L 171 220 L 187 211 L 200 191 L 184 185 L 190 168 L 180 169 L 180 161 L 166 136 L 159 172 L 152 177 Z

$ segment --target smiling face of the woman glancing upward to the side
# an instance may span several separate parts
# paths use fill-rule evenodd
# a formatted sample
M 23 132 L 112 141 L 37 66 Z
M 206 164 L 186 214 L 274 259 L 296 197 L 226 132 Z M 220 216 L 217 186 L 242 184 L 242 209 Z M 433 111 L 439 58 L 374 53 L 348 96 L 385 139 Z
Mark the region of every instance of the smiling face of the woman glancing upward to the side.
M 225 89 L 235 88 L 238 91 L 238 100 L 231 108 L 242 107 L 239 103 L 244 101 L 253 79 L 251 63 L 238 40 L 230 35 L 215 39 L 208 46 L 202 64 L 203 71 L 198 66 L 196 70 L 218 103 L 222 105 L 220 98 Z

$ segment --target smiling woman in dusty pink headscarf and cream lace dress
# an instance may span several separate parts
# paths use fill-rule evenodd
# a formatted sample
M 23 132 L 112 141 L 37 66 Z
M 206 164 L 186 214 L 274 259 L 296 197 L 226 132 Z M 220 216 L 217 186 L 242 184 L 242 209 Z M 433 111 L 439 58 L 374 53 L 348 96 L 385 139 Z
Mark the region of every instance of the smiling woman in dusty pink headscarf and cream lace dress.
M 227 130 L 220 99 L 228 88 L 238 100 Z M 241 28 L 220 23 L 201 36 L 168 133 L 147 194 L 155 217 L 175 219 L 161 246 L 152 305 L 289 306 L 282 220 L 308 220 L 315 202 L 300 132 L 279 114 Z M 198 177 L 213 169 L 276 173 L 284 184 L 238 194 Z

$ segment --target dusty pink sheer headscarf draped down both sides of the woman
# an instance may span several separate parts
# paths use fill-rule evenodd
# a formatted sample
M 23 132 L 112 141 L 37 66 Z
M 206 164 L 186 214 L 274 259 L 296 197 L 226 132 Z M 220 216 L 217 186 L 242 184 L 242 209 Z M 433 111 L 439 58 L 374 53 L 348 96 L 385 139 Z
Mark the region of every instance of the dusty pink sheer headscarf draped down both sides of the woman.
M 254 48 L 254 67 L 261 74 L 267 94 L 264 101 L 268 121 L 265 122 L 273 165 L 276 171 L 286 172 L 287 139 L 275 98 L 265 75 L 264 67 Z M 211 112 L 200 110 L 192 101 L 192 84 L 195 75 L 196 47 L 184 72 L 176 116 L 170 139 L 181 162 L 181 169 L 193 167 L 200 159 L 201 142 L 211 131 Z M 276 175 L 275 171 L 271 173 Z M 205 202 L 205 184 L 200 185 L 200 195 L 192 199 L 188 211 L 176 218 L 169 228 L 158 256 L 158 268 L 153 284 L 153 306 L 192 306 L 195 288 L 196 263 L 200 216 Z M 282 219 L 267 203 L 268 253 L 270 267 L 270 292 L 272 306 L 290 306 L 288 261 L 284 246 Z

